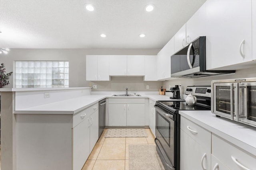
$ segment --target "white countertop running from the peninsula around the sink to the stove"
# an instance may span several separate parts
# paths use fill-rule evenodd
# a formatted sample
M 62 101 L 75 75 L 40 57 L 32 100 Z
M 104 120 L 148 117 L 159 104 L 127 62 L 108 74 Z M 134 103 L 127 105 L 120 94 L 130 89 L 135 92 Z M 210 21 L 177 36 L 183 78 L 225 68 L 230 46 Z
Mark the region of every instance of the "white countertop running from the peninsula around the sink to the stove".
M 15 110 L 15 114 L 75 114 L 86 107 L 92 106 L 104 98 L 150 98 L 153 101 L 170 100 L 164 95 L 142 95 L 142 96 L 112 96 L 112 94 L 92 94 L 51 104 L 44 104 L 35 107 L 28 107 Z

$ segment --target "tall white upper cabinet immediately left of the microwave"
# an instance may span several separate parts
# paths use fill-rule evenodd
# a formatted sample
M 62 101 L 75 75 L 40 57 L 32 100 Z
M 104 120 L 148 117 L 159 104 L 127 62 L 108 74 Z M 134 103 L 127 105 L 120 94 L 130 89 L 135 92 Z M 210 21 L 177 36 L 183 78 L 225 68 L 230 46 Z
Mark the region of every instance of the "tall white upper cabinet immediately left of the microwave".
M 174 54 L 174 37 L 157 54 L 157 79 L 171 77 L 171 55 Z

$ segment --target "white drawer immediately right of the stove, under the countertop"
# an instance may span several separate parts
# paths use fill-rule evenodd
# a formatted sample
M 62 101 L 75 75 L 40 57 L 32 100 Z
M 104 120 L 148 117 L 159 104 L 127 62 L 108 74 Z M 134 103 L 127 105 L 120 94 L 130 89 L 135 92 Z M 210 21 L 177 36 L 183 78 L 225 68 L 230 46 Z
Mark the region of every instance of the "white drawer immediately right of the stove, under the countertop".
M 202 145 L 204 148 L 211 148 L 211 132 L 197 125 L 196 123 L 180 117 L 180 129 L 186 132 L 192 137 L 197 143 Z

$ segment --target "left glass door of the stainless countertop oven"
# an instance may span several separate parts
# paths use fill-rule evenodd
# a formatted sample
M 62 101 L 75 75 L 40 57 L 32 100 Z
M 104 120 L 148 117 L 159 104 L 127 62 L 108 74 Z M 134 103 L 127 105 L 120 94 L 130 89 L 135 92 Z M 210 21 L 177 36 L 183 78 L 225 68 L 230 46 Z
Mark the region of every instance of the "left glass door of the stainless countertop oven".
M 214 83 L 213 112 L 216 115 L 238 121 L 238 86 L 239 83 Z

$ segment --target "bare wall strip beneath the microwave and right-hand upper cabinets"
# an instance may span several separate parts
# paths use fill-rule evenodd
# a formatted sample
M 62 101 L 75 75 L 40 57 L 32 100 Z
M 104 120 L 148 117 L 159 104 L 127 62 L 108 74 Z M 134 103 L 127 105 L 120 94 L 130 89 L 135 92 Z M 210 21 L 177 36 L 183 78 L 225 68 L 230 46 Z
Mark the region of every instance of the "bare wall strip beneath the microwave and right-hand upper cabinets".
M 236 70 L 236 74 L 226 74 L 221 76 L 210 76 L 201 78 L 178 78 L 175 80 L 168 80 L 164 82 L 164 88 L 170 89 L 169 86 L 182 84 L 182 94 L 185 94 L 187 86 L 210 86 L 212 80 L 224 80 L 234 78 L 254 78 L 256 77 L 256 66 L 254 68 L 247 68 L 242 70 Z

